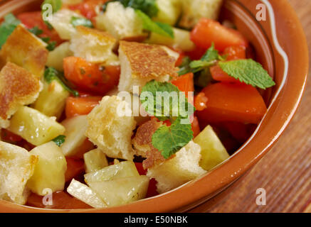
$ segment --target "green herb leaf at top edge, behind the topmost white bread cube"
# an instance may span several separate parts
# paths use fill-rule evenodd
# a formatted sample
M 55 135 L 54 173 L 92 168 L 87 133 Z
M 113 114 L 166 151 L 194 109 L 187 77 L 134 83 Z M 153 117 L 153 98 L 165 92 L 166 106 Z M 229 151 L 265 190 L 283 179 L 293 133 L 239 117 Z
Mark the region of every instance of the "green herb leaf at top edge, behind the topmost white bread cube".
M 119 1 L 125 7 L 131 7 L 132 9 L 139 9 L 143 13 L 147 14 L 150 18 L 157 16 L 159 11 L 157 2 L 155 0 L 114 0 Z M 107 10 L 107 5 L 112 1 L 107 1 L 102 6 L 102 11 Z

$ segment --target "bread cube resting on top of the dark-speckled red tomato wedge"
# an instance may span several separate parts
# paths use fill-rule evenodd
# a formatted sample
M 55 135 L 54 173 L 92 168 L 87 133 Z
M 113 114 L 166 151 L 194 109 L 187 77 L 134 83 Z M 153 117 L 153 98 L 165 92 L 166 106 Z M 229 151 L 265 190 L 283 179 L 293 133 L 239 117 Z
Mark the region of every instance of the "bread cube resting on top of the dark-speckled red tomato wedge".
M 89 62 L 113 62 L 118 60 L 117 55 L 112 52 L 116 41 L 109 33 L 77 26 L 70 50 L 75 57 L 83 57 Z

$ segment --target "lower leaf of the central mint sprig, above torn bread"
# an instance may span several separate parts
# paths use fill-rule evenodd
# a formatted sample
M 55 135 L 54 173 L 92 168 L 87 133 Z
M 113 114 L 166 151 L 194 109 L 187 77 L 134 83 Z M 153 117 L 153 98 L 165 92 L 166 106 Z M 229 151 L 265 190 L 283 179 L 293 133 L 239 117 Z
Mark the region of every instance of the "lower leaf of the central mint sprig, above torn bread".
M 181 124 L 181 118 L 177 118 L 172 126 L 158 128 L 152 135 L 152 145 L 161 152 L 164 158 L 168 159 L 193 138 L 194 133 L 191 130 L 191 124 Z

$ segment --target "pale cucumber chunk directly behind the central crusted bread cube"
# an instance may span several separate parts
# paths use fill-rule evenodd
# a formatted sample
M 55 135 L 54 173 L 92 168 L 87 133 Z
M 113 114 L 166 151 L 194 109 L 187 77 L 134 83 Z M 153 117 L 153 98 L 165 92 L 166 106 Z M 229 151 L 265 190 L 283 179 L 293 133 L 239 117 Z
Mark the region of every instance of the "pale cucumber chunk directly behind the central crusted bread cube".
M 194 50 L 196 46 L 190 40 L 189 31 L 179 28 L 173 28 L 173 31 L 174 31 L 174 39 L 165 37 L 163 35 L 159 35 L 157 33 L 151 33 L 149 39 L 146 40 L 146 43 L 167 45 L 169 47 L 183 50 L 185 52 Z

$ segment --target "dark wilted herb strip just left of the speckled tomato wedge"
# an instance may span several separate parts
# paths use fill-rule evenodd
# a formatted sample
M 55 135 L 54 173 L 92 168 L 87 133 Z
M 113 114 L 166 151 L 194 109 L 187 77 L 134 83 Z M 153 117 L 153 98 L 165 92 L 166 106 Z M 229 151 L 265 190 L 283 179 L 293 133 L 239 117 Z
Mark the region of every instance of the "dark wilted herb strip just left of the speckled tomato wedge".
M 46 70 L 44 71 L 44 79 L 46 80 L 46 82 L 48 82 L 48 84 L 51 84 L 51 82 L 56 79 L 63 86 L 63 88 L 73 94 L 73 96 L 80 96 L 79 92 L 68 86 L 69 82 L 67 79 L 65 79 L 63 73 L 58 72 L 53 67 L 46 68 Z

